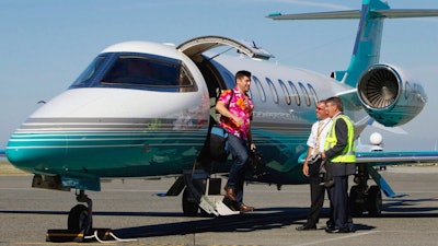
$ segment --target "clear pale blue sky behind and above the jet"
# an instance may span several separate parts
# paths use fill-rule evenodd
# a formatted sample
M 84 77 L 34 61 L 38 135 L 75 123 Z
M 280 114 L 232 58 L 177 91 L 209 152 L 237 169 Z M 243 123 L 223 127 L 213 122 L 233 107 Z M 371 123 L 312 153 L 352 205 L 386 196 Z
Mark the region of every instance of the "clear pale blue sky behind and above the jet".
M 438 9 L 438 1 L 392 0 L 393 9 Z M 359 0 L 2 0 L 0 148 L 37 102 L 66 90 L 105 47 L 125 40 L 181 44 L 201 35 L 254 40 L 275 61 L 324 74 L 348 66 L 357 20 L 272 21 L 269 13 L 359 9 Z M 381 62 L 416 78 L 428 94 L 407 136 L 380 131 L 387 150 L 434 150 L 438 141 L 438 17 L 387 20 Z M 364 132 L 362 142 L 376 129 Z

